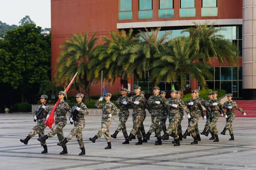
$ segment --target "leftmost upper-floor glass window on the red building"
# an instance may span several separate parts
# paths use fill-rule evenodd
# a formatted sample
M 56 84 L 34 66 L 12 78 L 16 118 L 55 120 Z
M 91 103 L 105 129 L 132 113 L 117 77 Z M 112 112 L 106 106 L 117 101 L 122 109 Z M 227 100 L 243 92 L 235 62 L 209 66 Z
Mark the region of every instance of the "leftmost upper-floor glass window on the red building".
M 132 20 L 132 0 L 119 0 L 119 20 Z

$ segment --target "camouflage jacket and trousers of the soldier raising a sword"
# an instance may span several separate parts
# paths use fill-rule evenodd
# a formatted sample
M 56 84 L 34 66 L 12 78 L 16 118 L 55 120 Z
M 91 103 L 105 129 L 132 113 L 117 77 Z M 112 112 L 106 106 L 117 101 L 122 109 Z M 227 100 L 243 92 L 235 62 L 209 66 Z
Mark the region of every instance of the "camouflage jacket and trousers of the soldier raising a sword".
M 107 142 L 110 142 L 108 128 L 111 124 L 111 117 L 108 117 L 108 115 L 112 113 L 112 111 L 114 111 L 112 115 L 116 115 L 118 113 L 118 108 L 112 102 L 100 103 L 99 101 L 97 101 L 95 106 L 98 108 L 102 108 L 101 127 L 97 133 L 97 137 L 100 138 L 102 134 L 104 134 Z

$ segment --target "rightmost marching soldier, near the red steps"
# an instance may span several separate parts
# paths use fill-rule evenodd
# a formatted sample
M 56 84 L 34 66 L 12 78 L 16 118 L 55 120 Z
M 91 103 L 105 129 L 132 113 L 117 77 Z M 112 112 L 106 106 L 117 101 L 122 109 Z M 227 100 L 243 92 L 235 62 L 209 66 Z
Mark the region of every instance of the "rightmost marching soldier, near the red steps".
M 221 132 L 222 135 L 226 135 L 226 130 L 229 131 L 229 134 L 231 138 L 229 139 L 230 141 L 234 140 L 234 133 L 233 133 L 233 128 L 232 128 L 232 122 L 234 121 L 236 117 L 236 112 L 234 112 L 234 108 L 238 109 L 242 114 L 246 115 L 243 109 L 241 109 L 236 102 L 232 100 L 233 95 L 232 94 L 227 94 L 228 101 L 224 103 L 223 107 L 227 109 L 226 115 L 228 118 L 226 118 L 226 125 Z

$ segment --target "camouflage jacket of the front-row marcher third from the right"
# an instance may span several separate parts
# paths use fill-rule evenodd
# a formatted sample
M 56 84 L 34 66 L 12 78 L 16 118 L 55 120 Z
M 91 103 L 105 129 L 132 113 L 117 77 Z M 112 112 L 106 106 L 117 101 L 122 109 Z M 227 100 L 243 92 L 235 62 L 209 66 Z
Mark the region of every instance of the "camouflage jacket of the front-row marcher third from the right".
M 193 105 L 189 105 L 188 103 L 193 102 Z M 190 99 L 186 101 L 186 106 L 188 106 L 188 109 L 190 111 L 190 115 L 198 115 L 200 117 L 200 114 L 202 117 L 204 117 L 204 109 L 203 105 L 201 103 L 201 100 L 199 98 Z

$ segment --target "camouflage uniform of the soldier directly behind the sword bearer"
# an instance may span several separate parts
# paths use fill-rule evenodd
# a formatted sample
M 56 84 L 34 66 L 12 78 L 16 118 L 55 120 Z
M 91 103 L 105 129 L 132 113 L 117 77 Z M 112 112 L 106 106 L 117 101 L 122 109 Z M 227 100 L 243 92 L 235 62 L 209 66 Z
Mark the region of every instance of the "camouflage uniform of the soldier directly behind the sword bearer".
M 127 102 L 127 104 L 123 104 L 123 102 Z M 130 103 L 130 98 L 127 96 L 121 96 L 116 100 L 116 105 L 119 106 L 120 110 L 118 113 L 120 125 L 118 125 L 118 128 L 116 131 L 120 132 L 122 130 L 124 137 L 128 137 L 127 131 L 126 131 L 126 126 L 125 123 L 129 117 L 129 103 Z

